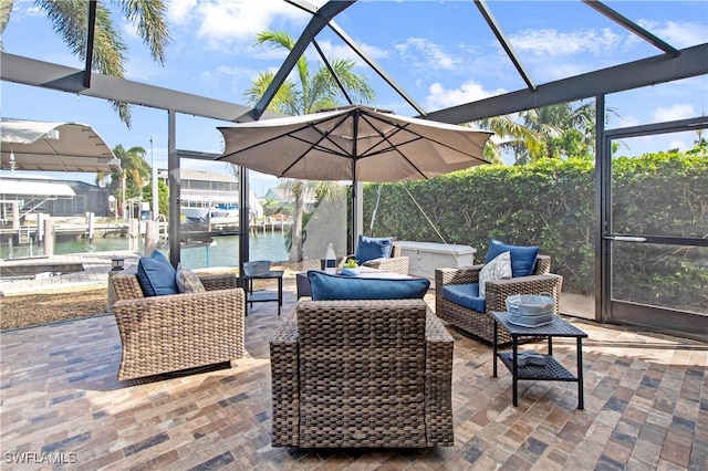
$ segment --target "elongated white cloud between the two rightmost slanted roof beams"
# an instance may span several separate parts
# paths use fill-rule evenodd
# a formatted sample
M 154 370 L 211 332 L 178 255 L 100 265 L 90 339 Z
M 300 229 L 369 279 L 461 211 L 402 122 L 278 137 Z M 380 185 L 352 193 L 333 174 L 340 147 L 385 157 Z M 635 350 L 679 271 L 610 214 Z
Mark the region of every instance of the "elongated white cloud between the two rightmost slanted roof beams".
M 519 52 L 558 56 L 606 52 L 617 48 L 621 38 L 608 28 L 600 31 L 581 30 L 568 33 L 554 29 L 542 29 L 520 31 L 511 35 L 509 41 Z

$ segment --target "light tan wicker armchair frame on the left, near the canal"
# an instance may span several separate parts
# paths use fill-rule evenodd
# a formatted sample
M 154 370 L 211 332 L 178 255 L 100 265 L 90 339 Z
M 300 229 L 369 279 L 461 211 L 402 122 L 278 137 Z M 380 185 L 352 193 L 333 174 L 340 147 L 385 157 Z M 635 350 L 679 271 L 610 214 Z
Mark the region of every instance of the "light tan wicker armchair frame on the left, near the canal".
M 111 276 L 123 344 L 119 380 L 243 357 L 243 290 L 236 275 L 199 279 L 206 292 L 144 297 L 136 275 Z

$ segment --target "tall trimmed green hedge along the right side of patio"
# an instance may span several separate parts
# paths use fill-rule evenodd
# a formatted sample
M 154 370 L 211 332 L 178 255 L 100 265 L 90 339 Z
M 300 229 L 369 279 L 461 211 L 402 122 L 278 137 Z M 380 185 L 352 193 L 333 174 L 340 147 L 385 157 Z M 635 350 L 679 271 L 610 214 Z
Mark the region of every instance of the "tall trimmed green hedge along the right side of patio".
M 544 159 L 525 166 L 483 166 L 429 180 L 384 184 L 371 231 L 377 185 L 366 184 L 365 232 L 472 245 L 478 261 L 491 238 L 538 244 L 542 253 L 552 257 L 553 272 L 564 276 L 564 290 L 593 293 L 594 175 L 591 160 Z M 615 158 L 613 188 L 615 232 L 697 238 L 708 233 L 705 156 L 659 153 Z M 673 254 L 676 247 L 625 243 L 622 249 L 615 259 L 615 279 L 622 280 L 615 295 L 667 305 L 704 303 L 708 310 L 705 249 L 680 254 Z

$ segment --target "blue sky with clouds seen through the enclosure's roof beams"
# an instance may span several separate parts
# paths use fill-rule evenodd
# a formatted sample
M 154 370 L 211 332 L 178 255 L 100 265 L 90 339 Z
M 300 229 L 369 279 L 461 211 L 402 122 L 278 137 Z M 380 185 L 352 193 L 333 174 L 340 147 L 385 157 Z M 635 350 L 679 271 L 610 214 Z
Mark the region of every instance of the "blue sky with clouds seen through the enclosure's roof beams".
M 153 63 L 132 24 L 116 17 L 129 46 L 126 77 L 212 98 L 246 104 L 243 92 L 261 71 L 275 71 L 285 51 L 254 48 L 256 34 L 284 30 L 296 38 L 309 15 L 278 0 L 169 1 L 173 41 L 164 67 Z M 322 3 L 322 1 L 319 1 Z M 493 14 L 538 84 L 657 55 L 660 51 L 580 1 L 489 1 Z M 625 17 L 683 49 L 708 42 L 706 1 L 606 1 Z M 108 2 L 108 6 L 112 3 Z M 471 1 L 360 1 L 336 23 L 426 111 L 440 109 L 524 87 Z M 83 64 L 52 30 L 33 1 L 15 0 L 2 38 L 4 51 L 81 69 Z M 317 42 L 331 57 L 351 57 L 376 91 L 375 105 L 417 113 L 325 29 Z M 316 66 L 313 48 L 308 50 Z M 127 129 L 101 100 L 1 82 L 2 116 L 85 123 L 111 147 L 142 146 L 160 168 L 167 166 L 167 113 L 133 107 Z M 624 127 L 708 113 L 708 77 L 659 84 L 607 96 L 610 127 Z M 178 115 L 177 147 L 220 153 L 226 123 Z M 150 149 L 150 138 L 153 145 Z M 653 136 L 626 143 L 625 154 L 688 148 L 695 135 Z M 228 172 L 223 164 L 184 161 L 185 168 Z M 76 177 L 72 175 L 72 178 Z M 79 176 L 92 181 L 93 176 Z M 278 181 L 252 176 L 260 195 Z

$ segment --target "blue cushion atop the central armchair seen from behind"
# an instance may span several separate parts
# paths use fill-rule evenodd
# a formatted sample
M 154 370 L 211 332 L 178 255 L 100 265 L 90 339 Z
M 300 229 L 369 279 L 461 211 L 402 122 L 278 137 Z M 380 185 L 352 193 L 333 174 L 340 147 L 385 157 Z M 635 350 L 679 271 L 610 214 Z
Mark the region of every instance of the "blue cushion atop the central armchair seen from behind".
M 423 299 L 430 287 L 427 279 L 339 276 L 308 272 L 312 300 L 412 300 Z

